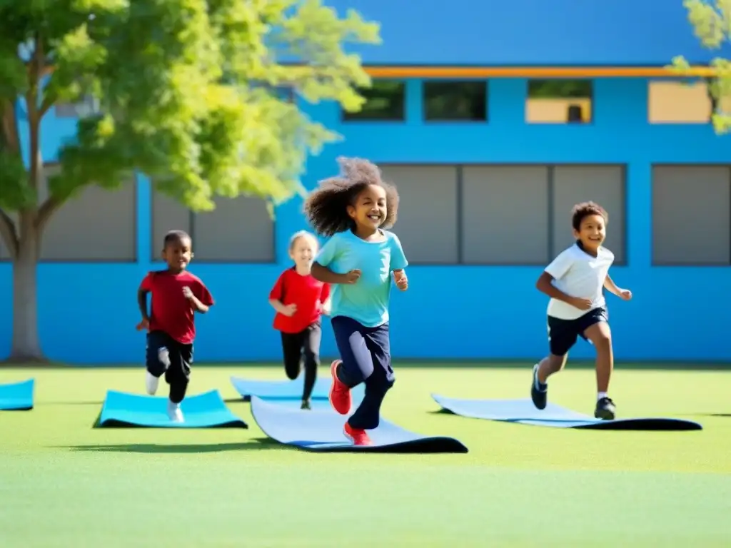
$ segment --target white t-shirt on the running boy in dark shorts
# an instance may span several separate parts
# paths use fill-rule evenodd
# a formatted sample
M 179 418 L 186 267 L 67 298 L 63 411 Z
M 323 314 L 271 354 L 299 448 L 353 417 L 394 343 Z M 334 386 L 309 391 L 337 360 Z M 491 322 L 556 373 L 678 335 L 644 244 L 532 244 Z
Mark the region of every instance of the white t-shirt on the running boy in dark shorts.
M 591 299 L 589 310 L 580 310 L 564 301 L 551 299 L 548 302 L 548 316 L 560 319 L 576 319 L 594 308 L 606 304 L 602 288 L 614 262 L 614 254 L 599 247 L 596 257 L 589 255 L 574 244 L 561 251 L 545 271 L 553 276 L 553 286 L 571 297 Z

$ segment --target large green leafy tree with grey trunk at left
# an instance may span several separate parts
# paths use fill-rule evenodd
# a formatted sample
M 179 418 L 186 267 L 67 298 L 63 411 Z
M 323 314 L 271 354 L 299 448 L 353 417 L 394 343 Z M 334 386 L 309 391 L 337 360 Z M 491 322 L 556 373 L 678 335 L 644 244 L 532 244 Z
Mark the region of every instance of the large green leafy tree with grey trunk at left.
M 309 153 L 338 139 L 282 98 L 363 104 L 370 79 L 348 42 L 379 26 L 319 0 L 0 0 L 0 235 L 13 263 L 10 360 L 43 361 L 36 270 L 48 220 L 86 186 L 139 171 L 193 210 L 248 194 L 302 191 Z M 287 62 L 289 61 L 289 62 Z M 296 61 L 296 63 L 292 62 Z M 93 97 L 43 180 L 41 121 L 57 102 Z M 15 117 L 25 102 L 27 119 Z M 29 142 L 20 142 L 27 123 Z M 27 146 L 24 162 L 21 149 Z

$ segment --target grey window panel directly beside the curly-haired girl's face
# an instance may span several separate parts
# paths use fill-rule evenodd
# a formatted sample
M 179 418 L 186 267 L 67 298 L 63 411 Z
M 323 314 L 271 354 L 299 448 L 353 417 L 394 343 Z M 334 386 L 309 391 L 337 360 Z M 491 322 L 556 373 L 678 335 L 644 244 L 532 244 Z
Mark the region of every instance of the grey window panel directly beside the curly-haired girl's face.
M 381 166 L 385 180 L 398 188 L 394 232 L 412 265 L 458 262 L 457 168 Z

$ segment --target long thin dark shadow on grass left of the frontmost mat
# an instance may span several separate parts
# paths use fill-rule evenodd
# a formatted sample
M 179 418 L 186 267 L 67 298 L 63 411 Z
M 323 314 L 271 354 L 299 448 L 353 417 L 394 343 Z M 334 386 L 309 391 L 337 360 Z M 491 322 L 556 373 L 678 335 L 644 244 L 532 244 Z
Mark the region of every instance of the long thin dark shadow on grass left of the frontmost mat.
M 231 444 L 115 444 L 115 445 L 64 445 L 54 449 L 71 449 L 91 453 L 147 453 L 147 454 L 194 454 L 225 451 L 263 451 L 265 449 L 286 449 L 286 446 L 270 438 L 254 438 L 250 441 Z

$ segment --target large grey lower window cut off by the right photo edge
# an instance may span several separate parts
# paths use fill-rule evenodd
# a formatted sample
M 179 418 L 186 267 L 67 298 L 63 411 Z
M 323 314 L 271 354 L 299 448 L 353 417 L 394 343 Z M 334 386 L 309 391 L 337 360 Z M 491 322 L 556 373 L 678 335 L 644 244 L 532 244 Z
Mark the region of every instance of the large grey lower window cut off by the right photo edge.
M 731 264 L 729 167 L 653 167 L 652 262 Z

